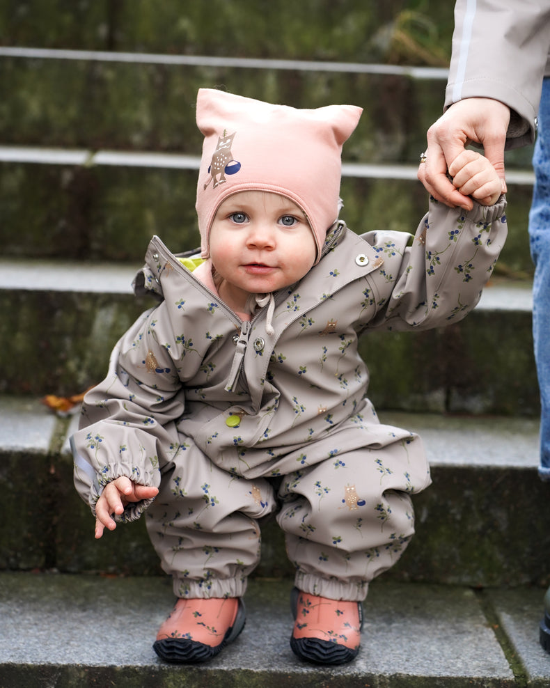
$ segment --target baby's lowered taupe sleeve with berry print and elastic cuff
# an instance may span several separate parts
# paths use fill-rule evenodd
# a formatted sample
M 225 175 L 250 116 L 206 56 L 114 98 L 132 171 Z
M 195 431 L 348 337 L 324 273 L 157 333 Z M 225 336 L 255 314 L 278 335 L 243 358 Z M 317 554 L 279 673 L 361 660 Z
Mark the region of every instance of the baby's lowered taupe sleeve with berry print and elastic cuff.
M 179 451 L 175 421 L 184 391 L 160 329 L 163 304 L 144 313 L 118 341 L 105 380 L 86 393 L 71 437 L 74 485 L 95 515 L 107 483 L 125 476 L 159 487 L 163 463 Z M 130 503 L 120 521 L 138 518 L 152 500 Z

